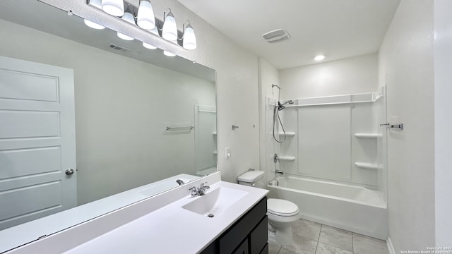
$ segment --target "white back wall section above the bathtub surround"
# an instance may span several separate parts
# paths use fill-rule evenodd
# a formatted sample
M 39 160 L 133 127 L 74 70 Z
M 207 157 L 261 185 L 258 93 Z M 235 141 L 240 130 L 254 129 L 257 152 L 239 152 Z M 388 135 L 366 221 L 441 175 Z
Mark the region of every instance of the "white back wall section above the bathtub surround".
M 369 54 L 281 70 L 281 99 L 374 92 L 377 68 L 377 55 Z

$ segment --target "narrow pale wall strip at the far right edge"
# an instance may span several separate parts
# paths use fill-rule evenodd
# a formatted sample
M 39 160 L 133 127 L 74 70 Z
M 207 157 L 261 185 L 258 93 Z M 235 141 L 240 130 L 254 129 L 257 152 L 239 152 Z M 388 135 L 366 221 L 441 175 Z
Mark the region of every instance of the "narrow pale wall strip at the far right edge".
M 452 1 L 434 6 L 435 243 L 452 246 Z

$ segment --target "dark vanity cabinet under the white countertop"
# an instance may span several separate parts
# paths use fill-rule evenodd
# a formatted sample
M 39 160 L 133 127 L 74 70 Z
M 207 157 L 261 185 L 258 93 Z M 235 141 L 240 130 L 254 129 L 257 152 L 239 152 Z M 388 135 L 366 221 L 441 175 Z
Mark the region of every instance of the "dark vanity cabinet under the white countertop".
M 268 254 L 267 240 L 267 198 L 264 197 L 201 254 Z

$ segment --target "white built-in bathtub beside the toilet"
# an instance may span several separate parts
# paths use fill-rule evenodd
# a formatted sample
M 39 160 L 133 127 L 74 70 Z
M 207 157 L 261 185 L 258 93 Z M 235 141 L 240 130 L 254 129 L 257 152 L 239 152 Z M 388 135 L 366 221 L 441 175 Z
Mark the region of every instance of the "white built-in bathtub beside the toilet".
M 280 176 L 268 198 L 295 202 L 301 219 L 386 240 L 388 213 L 381 191 L 343 183 Z

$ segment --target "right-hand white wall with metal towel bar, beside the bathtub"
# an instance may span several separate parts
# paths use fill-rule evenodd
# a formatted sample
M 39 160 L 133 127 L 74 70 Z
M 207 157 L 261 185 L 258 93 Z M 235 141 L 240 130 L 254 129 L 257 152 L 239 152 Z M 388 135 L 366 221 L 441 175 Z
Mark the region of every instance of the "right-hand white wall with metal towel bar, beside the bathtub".
M 435 244 L 433 29 L 434 1 L 403 0 L 379 52 L 388 121 L 405 123 L 403 131 L 388 133 L 389 237 L 396 253 Z

